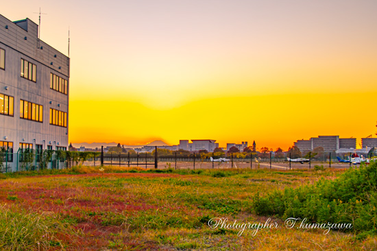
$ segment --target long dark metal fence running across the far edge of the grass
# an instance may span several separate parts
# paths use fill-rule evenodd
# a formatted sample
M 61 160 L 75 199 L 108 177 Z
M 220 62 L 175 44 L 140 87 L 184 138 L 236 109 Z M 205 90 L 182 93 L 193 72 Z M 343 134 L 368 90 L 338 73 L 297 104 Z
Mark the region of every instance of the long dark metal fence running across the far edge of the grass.
M 269 168 L 269 169 L 303 169 L 313 168 L 316 165 L 328 168 L 346 168 L 354 165 L 352 162 L 339 162 L 341 160 L 352 159 L 352 152 L 348 154 L 327 153 L 312 157 L 308 155 L 308 161 L 295 162 L 287 160 L 291 154 L 284 158 L 274 158 L 272 154 L 265 154 L 265 158 L 259 158 L 256 153 L 250 154 L 222 154 L 221 156 L 210 154 L 177 154 L 158 156 L 158 147 L 154 153 L 143 152 L 130 154 L 104 153 L 102 152 L 69 152 L 53 150 L 25 150 L 19 148 L 16 152 L 12 149 L 0 152 L 0 171 L 29 171 L 40 169 L 63 169 L 74 165 L 118 165 L 119 167 L 145 167 L 145 168 L 207 168 L 207 169 L 226 169 L 226 168 Z M 212 157 L 212 161 L 211 160 Z M 219 158 L 222 161 L 219 161 Z M 372 158 L 373 155 L 369 155 Z M 290 158 L 292 159 L 292 158 Z

